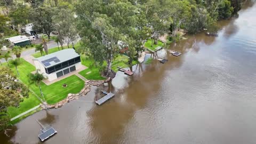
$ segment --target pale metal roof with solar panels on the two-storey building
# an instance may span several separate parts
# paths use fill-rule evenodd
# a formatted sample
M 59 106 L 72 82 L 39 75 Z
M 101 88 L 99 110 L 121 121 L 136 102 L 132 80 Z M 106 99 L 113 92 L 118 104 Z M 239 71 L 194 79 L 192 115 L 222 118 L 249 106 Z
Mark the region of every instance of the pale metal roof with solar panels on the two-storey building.
M 51 54 L 47 54 L 34 60 L 38 60 L 39 62 L 41 62 L 45 68 L 49 68 L 58 65 L 61 62 L 74 59 L 76 57 L 79 57 L 79 54 L 77 54 L 74 49 L 65 49 Z

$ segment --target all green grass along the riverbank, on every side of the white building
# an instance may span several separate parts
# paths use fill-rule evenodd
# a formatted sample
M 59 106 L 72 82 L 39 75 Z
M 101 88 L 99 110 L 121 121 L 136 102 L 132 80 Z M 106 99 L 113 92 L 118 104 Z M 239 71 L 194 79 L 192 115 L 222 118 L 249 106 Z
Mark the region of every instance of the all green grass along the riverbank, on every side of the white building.
M 67 46 L 64 46 L 64 47 L 65 49 L 67 49 Z M 76 48 L 81 47 L 81 44 L 76 44 L 75 47 Z M 60 47 L 60 50 L 61 50 L 61 47 Z M 57 51 L 59 51 L 58 47 L 54 47 L 53 49 L 49 49 L 49 54 Z M 33 54 L 33 56 L 35 58 L 41 57 L 41 53 L 37 52 Z M 118 57 L 113 61 L 112 69 L 114 71 L 118 71 L 117 67 L 123 67 L 123 68 L 129 67 L 129 65 L 127 64 L 128 61 L 129 61 L 129 58 L 126 57 L 125 55 L 118 55 Z M 10 65 L 10 68 L 13 70 L 13 73 L 17 76 L 17 78 L 20 79 L 22 83 L 24 83 L 29 87 L 31 92 L 29 93 L 29 98 L 24 99 L 24 101 L 20 103 L 20 106 L 18 108 L 16 107 L 8 108 L 7 114 L 10 116 L 10 118 L 15 117 L 41 103 L 41 101 L 39 101 L 37 98 L 37 97 L 41 98 L 39 87 L 36 86 L 35 84 L 30 84 L 29 77 L 28 77 L 28 74 L 30 74 L 32 71 L 35 71 L 36 68 L 22 58 L 20 58 L 20 62 L 21 62 L 21 65 L 18 66 L 18 70 L 20 73 L 19 76 L 17 75 L 17 71 L 15 70 L 14 66 Z M 79 74 L 84 76 L 86 79 L 90 79 L 90 80 L 106 79 L 105 77 L 101 76 L 99 72 L 100 69 L 94 65 L 95 63 L 94 60 L 86 59 L 85 55 L 81 55 L 81 63 L 82 65 L 86 66 L 87 69 L 79 72 Z M 138 61 L 133 61 L 132 65 L 135 65 L 137 63 Z M 106 65 L 107 65 L 106 62 L 103 63 L 103 66 L 106 66 Z M 6 62 L 3 63 L 3 66 L 7 66 L 7 63 Z M 3 67 L 3 66 L 0 66 L 0 67 Z M 62 87 L 62 84 L 64 83 L 66 83 L 68 87 L 66 88 Z M 41 82 L 41 87 L 42 87 L 46 102 L 52 105 L 65 99 L 68 93 L 78 93 L 79 91 L 81 91 L 84 87 L 84 82 L 81 78 L 77 77 L 76 75 L 73 75 L 65 79 L 62 79 L 59 82 L 53 83 L 51 85 L 46 85 L 43 82 Z M 21 121 L 21 119 L 26 118 L 27 116 L 33 113 L 36 113 L 37 111 L 38 109 L 31 111 L 25 116 L 15 119 L 14 121 L 11 122 L 11 124 L 15 124 Z

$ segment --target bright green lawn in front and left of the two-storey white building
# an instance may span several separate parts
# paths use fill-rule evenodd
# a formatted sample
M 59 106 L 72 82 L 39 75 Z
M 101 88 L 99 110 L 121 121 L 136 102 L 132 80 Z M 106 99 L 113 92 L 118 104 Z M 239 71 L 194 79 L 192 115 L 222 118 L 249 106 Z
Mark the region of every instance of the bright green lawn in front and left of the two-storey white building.
M 38 100 L 37 97 L 40 97 L 39 87 L 35 84 L 29 83 L 29 77 L 28 74 L 30 74 L 32 71 L 35 71 L 36 68 L 31 65 L 29 62 L 27 62 L 24 59 L 20 59 L 21 64 L 18 66 L 18 70 L 20 75 L 18 76 L 18 79 L 25 85 L 27 85 L 30 89 L 29 98 L 25 98 L 23 102 L 20 103 L 20 106 L 18 108 L 15 107 L 9 107 L 7 114 L 12 118 L 14 116 L 17 116 L 41 103 L 41 101 Z M 3 63 L 3 66 L 7 66 L 7 63 Z M 0 66 L 0 67 L 3 67 Z M 10 68 L 13 70 L 14 74 L 17 75 L 17 71 L 15 70 L 14 66 L 10 66 Z M 68 87 L 62 87 L 62 84 L 66 83 Z M 67 97 L 68 93 L 78 93 L 80 92 L 84 87 L 84 81 L 77 77 L 76 75 L 67 77 L 65 79 L 62 79 L 59 82 L 53 83 L 51 85 L 46 85 L 43 82 L 41 83 L 42 90 L 45 96 L 45 99 L 47 103 L 54 104 L 57 103 Z M 36 95 L 35 95 L 36 94 Z M 36 97 L 37 96 L 37 97 Z M 35 111 L 34 111 L 35 112 Z M 32 112 L 31 112 L 32 114 Z M 29 114 L 28 114 L 29 115 Z M 28 116 L 26 115 L 26 116 Z M 26 117 L 25 116 L 25 117 Z M 22 117 L 24 118 L 24 117 Z M 12 123 L 20 121 L 22 118 L 19 118 L 15 120 Z

